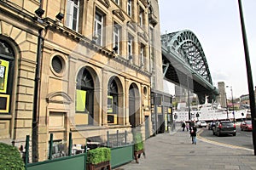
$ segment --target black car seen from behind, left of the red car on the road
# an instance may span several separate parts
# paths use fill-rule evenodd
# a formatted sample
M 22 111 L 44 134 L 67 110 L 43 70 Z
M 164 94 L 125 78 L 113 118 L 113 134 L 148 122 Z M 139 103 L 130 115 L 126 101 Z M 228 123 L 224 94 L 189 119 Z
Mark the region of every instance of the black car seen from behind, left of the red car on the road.
M 236 136 L 236 124 L 231 121 L 216 122 L 215 127 L 212 127 L 212 133 L 217 136 L 222 134 L 232 134 Z

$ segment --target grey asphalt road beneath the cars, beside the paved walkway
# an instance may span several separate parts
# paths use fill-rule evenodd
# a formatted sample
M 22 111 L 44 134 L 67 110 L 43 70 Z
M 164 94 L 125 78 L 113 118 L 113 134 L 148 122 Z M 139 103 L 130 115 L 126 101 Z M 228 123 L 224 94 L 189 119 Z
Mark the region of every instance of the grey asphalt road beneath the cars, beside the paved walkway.
M 203 130 L 203 132 L 200 133 L 202 138 L 222 144 L 231 144 L 253 150 L 252 132 L 241 131 L 240 127 L 236 127 L 236 136 L 230 135 L 218 137 L 212 134 L 212 130 L 208 130 L 207 128 L 201 128 L 201 130 Z

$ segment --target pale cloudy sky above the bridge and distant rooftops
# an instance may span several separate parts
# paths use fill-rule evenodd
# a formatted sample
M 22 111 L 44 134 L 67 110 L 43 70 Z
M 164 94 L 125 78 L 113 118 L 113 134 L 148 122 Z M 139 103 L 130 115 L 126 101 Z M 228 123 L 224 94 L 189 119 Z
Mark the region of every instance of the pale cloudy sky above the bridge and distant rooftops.
M 256 86 L 256 0 L 241 0 Z M 190 30 L 201 42 L 212 82 L 232 87 L 234 98 L 248 94 L 247 69 L 237 0 L 159 0 L 161 34 Z M 231 88 L 226 88 L 228 99 Z

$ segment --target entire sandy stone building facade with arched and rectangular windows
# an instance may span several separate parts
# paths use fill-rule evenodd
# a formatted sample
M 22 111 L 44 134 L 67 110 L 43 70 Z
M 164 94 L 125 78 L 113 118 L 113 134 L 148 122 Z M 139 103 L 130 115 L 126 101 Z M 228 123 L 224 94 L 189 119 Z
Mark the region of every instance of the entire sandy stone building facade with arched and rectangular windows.
M 154 133 L 158 1 L 6 0 L 0 9 L 1 140 L 20 147 L 28 134 L 32 161 L 43 161 L 49 133 L 66 150 L 69 133 L 73 144 Z

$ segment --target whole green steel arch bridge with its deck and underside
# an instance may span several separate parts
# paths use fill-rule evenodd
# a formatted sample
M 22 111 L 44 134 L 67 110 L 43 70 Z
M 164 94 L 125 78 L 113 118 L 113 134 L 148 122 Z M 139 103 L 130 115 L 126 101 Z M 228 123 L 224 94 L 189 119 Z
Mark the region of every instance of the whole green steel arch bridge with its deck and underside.
M 212 77 L 201 43 L 192 31 L 177 31 L 161 36 L 163 65 L 169 64 L 165 79 L 189 88 L 202 104 L 205 96 L 215 99 L 218 89 Z

